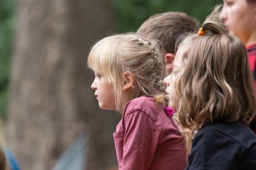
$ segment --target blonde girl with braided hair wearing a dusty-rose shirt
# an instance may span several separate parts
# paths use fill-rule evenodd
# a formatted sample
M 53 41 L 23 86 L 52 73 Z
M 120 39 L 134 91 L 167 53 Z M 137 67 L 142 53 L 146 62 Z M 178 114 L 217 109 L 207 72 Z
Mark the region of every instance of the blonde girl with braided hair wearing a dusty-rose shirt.
M 113 133 L 119 170 L 186 167 L 184 136 L 165 113 L 163 54 L 157 40 L 132 33 L 106 37 L 89 53 L 99 107 L 122 114 Z

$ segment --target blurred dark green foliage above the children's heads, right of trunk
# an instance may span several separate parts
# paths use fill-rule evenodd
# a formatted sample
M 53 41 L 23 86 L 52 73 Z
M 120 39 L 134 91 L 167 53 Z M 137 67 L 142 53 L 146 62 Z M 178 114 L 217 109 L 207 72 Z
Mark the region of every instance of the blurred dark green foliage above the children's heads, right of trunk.
M 117 31 L 137 31 L 151 15 L 167 11 L 185 12 L 201 23 L 220 3 L 222 0 L 114 0 Z

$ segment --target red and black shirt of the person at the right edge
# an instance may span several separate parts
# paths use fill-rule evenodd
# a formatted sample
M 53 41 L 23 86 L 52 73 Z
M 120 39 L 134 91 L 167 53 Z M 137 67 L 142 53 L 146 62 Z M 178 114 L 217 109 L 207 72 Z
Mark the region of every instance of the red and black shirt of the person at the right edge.
M 250 61 L 250 67 L 253 71 L 253 77 L 256 85 L 256 44 L 247 46 L 248 57 Z M 250 123 L 250 128 L 256 134 L 256 117 L 254 117 L 253 121 Z

